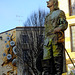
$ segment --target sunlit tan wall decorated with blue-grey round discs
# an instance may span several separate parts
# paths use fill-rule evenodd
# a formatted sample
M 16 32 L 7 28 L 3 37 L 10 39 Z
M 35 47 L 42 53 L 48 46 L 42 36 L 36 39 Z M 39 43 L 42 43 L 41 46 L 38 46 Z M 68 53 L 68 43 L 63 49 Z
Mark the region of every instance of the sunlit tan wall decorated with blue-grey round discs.
M 0 75 L 16 75 L 16 29 L 0 33 Z

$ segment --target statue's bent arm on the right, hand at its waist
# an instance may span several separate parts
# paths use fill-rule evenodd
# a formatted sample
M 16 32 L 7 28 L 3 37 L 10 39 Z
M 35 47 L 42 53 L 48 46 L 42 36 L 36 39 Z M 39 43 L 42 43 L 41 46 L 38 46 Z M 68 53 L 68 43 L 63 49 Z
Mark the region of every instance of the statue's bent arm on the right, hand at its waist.
M 68 22 L 66 21 L 65 13 L 61 11 L 57 19 L 57 27 L 54 29 L 54 33 L 64 31 L 67 27 Z

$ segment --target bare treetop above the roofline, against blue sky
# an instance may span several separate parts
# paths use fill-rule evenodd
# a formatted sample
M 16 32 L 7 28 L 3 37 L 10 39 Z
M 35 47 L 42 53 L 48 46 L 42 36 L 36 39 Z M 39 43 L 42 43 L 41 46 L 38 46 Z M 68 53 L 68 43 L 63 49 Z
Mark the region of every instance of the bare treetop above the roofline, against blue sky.
M 31 14 L 29 18 L 24 23 L 24 26 L 44 26 L 45 17 L 48 12 L 45 10 L 38 10 L 38 12 L 34 12 Z

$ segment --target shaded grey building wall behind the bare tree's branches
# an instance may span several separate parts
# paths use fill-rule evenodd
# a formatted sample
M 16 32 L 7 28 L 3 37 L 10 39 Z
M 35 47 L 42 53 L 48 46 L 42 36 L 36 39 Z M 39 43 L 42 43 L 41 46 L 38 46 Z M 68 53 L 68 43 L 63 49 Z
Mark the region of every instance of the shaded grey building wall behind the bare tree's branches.
M 18 75 L 35 75 L 36 57 L 43 46 L 43 31 L 44 27 L 16 27 Z

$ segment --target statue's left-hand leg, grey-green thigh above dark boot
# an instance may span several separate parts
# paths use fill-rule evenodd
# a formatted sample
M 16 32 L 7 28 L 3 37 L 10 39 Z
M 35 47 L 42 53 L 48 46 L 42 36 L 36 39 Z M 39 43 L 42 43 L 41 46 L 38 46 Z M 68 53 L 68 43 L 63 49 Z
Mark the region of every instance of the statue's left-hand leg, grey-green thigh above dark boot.
M 53 62 L 53 51 L 52 41 L 49 41 L 47 45 L 44 45 L 43 60 L 42 60 L 42 75 L 54 75 L 54 62 Z

